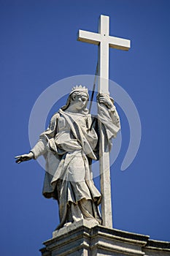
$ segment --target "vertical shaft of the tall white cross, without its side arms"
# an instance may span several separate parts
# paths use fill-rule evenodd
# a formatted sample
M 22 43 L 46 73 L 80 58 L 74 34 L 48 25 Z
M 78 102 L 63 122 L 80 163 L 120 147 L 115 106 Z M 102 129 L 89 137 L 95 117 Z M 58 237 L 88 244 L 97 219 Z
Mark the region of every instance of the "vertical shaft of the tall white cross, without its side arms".
M 101 15 L 98 23 L 98 33 L 103 37 L 102 42 L 98 45 L 98 92 L 109 94 L 109 44 L 107 36 L 109 36 L 109 17 Z M 112 228 L 112 202 L 111 202 L 111 184 L 109 169 L 109 150 L 104 148 L 104 131 L 101 123 L 100 129 L 100 145 L 99 145 L 99 165 L 101 178 L 101 213 L 102 225 Z

